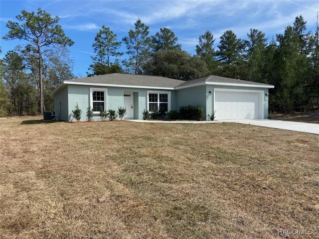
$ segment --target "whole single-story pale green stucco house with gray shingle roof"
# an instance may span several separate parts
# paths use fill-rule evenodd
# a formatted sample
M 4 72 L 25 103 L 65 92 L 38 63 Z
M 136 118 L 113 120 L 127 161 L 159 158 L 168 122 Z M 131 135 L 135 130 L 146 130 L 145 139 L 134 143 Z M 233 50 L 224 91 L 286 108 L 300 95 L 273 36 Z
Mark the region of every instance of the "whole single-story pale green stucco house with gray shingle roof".
M 160 76 L 107 74 L 63 81 L 53 92 L 57 119 L 71 121 L 76 104 L 82 110 L 118 110 L 126 107 L 125 119 L 143 119 L 143 111 L 164 109 L 178 111 L 193 105 L 204 108 L 205 115 L 215 112 L 216 119 L 266 119 L 268 89 L 273 85 L 219 76 L 180 81 Z

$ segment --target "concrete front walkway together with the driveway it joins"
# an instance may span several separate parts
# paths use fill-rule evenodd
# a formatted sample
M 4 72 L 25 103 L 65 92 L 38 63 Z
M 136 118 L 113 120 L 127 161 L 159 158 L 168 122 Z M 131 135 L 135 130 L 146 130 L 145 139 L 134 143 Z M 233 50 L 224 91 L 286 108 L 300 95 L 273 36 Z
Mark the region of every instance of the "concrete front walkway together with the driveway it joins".
M 274 120 L 274 119 L 224 119 L 224 120 L 214 120 L 214 121 L 165 121 L 165 120 L 141 120 L 141 119 L 129 119 L 134 122 L 143 123 L 221 123 L 221 122 L 234 122 L 251 124 L 262 127 L 269 128 L 280 128 L 292 131 L 300 131 L 306 133 L 319 134 L 319 124 L 317 123 L 304 123 L 304 122 L 294 122 L 286 120 Z

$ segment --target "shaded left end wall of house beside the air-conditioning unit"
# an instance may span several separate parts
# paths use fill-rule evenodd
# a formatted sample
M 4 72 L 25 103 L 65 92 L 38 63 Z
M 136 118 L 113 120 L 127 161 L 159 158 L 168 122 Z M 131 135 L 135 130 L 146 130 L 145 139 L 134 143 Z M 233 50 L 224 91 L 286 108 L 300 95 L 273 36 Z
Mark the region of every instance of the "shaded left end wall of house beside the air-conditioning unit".
M 54 96 L 55 118 L 68 121 L 68 87 L 64 87 Z

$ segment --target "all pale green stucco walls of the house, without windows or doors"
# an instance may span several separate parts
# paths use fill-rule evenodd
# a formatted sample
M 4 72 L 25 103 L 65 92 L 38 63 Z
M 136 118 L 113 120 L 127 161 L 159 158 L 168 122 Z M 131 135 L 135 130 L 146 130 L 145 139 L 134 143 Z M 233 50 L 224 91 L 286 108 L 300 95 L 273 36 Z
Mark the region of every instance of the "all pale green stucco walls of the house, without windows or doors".
M 140 88 L 120 88 L 120 87 L 95 87 L 81 85 L 66 85 L 63 89 L 57 92 L 54 96 L 54 111 L 57 119 L 65 121 L 74 121 L 72 118 L 72 110 L 75 109 L 78 103 L 82 110 L 81 121 L 86 121 L 86 112 L 90 107 L 90 88 L 107 89 L 107 110 L 118 110 L 124 106 L 124 92 L 133 92 L 134 99 L 134 119 L 143 119 L 143 111 L 148 109 L 147 93 L 153 92 L 170 92 L 170 110 L 179 110 L 181 106 L 200 106 L 204 108 L 206 119 L 208 115 L 214 112 L 214 89 L 235 89 L 247 91 L 262 91 L 263 92 L 263 112 L 264 118 L 268 117 L 268 100 L 269 94 L 266 88 L 251 88 L 251 87 L 222 87 L 213 85 L 203 85 L 189 87 L 179 90 L 155 90 L 155 89 L 140 89 Z M 211 94 L 209 94 L 211 92 Z M 94 115 L 95 121 L 100 120 L 99 115 Z

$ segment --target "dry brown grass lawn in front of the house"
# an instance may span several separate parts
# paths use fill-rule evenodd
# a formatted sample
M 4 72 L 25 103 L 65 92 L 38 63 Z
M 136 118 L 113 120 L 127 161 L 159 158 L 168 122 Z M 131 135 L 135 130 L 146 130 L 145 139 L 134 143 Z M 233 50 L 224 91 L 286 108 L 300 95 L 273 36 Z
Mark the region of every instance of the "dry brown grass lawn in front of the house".
M 318 225 L 318 135 L 0 119 L 0 238 L 270 239 Z

